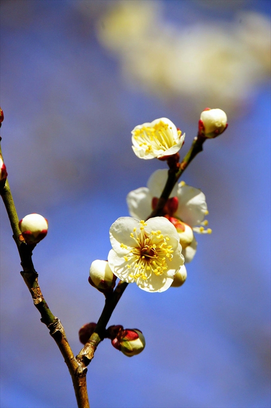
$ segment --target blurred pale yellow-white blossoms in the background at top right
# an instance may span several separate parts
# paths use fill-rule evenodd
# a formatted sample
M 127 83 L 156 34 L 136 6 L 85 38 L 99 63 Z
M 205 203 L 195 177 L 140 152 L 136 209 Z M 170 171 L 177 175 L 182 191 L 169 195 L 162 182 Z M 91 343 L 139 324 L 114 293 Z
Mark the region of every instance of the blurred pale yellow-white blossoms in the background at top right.
M 269 21 L 243 12 L 230 24 L 177 28 L 160 11 L 159 2 L 115 3 L 97 24 L 98 39 L 119 55 L 125 77 L 144 91 L 185 96 L 195 110 L 216 105 L 235 113 L 269 73 Z

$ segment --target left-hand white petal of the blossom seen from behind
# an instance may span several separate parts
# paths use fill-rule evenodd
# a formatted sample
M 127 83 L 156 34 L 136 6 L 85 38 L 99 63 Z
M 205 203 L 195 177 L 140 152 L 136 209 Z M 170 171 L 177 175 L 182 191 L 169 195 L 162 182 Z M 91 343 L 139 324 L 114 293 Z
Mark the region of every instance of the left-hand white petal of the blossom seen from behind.
M 145 220 L 152 211 L 152 195 L 147 187 L 130 191 L 126 201 L 131 217 Z

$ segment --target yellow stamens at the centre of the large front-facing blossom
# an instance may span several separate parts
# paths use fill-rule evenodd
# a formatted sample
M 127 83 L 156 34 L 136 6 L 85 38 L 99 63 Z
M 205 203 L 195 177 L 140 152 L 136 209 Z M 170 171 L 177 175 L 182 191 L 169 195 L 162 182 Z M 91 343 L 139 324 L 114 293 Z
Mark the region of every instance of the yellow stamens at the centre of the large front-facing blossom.
M 164 237 L 161 231 L 152 231 L 149 235 L 145 231 L 147 223 L 140 221 L 140 234 L 137 234 L 137 228 L 133 228 L 130 237 L 135 241 L 135 246 L 124 256 L 126 267 L 133 270 L 129 276 L 133 279 L 141 277 L 143 280 L 148 279 L 152 273 L 162 275 L 167 269 L 167 260 L 173 258 L 172 245 L 168 245 L 169 237 Z M 124 244 L 120 244 L 124 248 Z M 129 263 L 128 263 L 129 262 Z

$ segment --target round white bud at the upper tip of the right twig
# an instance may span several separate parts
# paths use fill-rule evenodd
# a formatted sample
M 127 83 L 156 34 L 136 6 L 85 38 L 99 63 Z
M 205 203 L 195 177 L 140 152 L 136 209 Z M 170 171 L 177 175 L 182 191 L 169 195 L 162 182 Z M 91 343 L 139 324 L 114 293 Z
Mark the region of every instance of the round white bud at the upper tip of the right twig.
M 199 134 L 209 139 L 221 135 L 227 126 L 227 115 L 222 109 L 206 108 L 200 115 Z

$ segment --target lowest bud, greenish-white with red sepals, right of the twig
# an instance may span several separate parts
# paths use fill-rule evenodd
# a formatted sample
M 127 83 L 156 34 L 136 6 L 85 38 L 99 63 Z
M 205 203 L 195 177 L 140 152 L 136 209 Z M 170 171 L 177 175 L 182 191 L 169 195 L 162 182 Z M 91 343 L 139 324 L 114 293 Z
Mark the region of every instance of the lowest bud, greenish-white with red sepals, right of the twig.
M 135 328 L 126 328 L 119 330 L 117 337 L 111 343 L 117 350 L 120 350 L 128 357 L 132 357 L 144 350 L 145 338 L 142 331 Z

